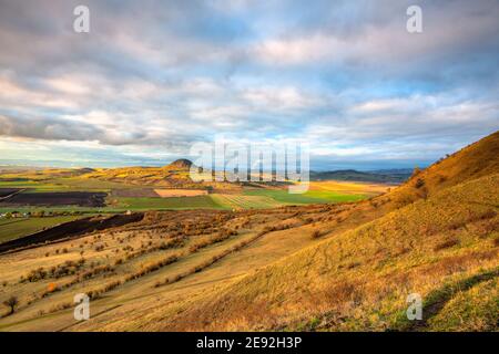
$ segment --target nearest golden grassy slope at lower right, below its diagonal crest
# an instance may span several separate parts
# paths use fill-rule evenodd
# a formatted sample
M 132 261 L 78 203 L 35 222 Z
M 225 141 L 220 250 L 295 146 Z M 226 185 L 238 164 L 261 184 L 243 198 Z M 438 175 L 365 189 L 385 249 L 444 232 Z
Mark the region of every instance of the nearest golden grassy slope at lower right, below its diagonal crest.
M 460 184 L 221 289 L 157 330 L 468 329 L 445 321 L 450 308 L 475 330 L 497 330 L 498 207 L 499 175 Z M 410 293 L 429 301 L 420 326 L 404 320 Z

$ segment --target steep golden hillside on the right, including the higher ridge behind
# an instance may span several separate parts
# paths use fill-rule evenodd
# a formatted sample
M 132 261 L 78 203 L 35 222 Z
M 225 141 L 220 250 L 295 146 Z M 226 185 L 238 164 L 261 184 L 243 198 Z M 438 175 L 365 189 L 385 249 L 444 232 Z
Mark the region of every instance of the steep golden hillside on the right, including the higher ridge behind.
M 196 296 L 132 305 L 131 323 L 110 312 L 104 326 L 73 330 L 497 329 L 497 148 L 495 133 L 385 196 L 299 208 L 309 225 L 278 232 L 292 240 L 318 230 L 326 238 L 319 244 Z M 426 301 L 417 326 L 404 320 L 415 292 Z

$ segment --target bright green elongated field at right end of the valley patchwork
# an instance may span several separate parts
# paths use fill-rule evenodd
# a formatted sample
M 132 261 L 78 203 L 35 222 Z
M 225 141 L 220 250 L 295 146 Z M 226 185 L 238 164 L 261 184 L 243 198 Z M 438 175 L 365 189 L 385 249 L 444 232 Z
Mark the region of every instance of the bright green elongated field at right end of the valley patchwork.
M 365 199 L 364 195 L 340 194 L 329 190 L 308 190 L 304 194 L 289 194 L 286 189 L 253 189 L 245 190 L 245 196 L 269 197 L 282 204 L 324 204 L 345 202 Z

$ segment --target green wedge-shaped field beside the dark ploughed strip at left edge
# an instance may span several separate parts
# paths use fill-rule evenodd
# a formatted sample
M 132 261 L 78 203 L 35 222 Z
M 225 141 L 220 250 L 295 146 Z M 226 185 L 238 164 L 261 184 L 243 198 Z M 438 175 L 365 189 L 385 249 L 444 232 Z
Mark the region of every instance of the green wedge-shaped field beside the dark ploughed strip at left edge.
M 78 216 L 0 219 L 0 243 L 41 231 L 59 223 L 73 221 Z

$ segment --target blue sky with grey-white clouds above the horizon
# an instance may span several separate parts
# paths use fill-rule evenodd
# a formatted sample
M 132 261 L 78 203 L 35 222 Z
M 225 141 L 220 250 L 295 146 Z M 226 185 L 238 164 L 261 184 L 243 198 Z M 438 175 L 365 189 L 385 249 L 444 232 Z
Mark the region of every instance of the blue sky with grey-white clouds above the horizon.
M 426 166 L 499 129 L 498 19 L 497 0 L 0 0 L 0 164 L 157 166 L 223 137 L 306 142 L 313 169 Z

